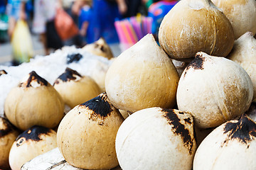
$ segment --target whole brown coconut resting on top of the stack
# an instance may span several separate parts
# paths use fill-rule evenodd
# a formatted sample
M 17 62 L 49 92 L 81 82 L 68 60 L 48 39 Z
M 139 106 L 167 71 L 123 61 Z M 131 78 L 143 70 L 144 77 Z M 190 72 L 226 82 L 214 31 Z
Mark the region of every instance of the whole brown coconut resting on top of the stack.
M 176 60 L 188 60 L 200 51 L 226 57 L 234 40 L 230 21 L 210 0 L 178 1 L 159 28 L 161 47 Z

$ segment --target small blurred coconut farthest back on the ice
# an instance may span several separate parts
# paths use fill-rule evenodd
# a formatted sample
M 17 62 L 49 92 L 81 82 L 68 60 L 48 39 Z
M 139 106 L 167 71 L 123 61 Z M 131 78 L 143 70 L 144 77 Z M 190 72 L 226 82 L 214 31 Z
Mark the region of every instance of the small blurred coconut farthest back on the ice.
M 102 57 L 106 57 L 108 60 L 114 57 L 110 46 L 107 45 L 107 42 L 104 38 L 100 38 L 92 44 L 85 45 L 85 47 L 82 47 L 82 50 L 91 52 L 93 55 L 100 55 Z

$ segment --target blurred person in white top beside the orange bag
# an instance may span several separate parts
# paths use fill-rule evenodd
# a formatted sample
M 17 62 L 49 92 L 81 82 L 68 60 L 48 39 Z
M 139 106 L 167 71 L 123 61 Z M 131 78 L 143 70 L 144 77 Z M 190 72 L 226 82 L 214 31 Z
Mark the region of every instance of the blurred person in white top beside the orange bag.
M 40 36 L 45 55 L 63 46 L 62 40 L 54 28 L 57 8 L 61 8 L 60 0 L 34 0 L 33 33 Z

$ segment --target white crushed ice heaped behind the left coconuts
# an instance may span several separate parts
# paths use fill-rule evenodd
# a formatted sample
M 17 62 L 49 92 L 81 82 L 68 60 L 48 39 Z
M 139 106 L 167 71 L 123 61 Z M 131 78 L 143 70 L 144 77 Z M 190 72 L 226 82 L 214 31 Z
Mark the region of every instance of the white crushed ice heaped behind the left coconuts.
M 68 64 L 68 55 L 77 53 L 82 55 L 82 58 L 78 62 Z M 43 77 L 53 85 L 60 74 L 63 74 L 65 69 L 69 67 L 81 75 L 92 77 L 100 85 L 104 84 L 105 74 L 111 63 L 112 60 L 107 60 L 105 57 L 92 55 L 85 50 L 70 46 L 56 50 L 48 56 L 36 56 L 31 59 L 31 62 L 23 63 L 16 67 L 0 65 L 0 70 L 4 69 L 7 72 L 7 74 L 0 76 L 0 116 L 4 115 L 4 101 L 9 91 L 32 71 L 35 71 L 40 77 Z M 105 88 L 104 86 L 100 87 L 101 89 Z

